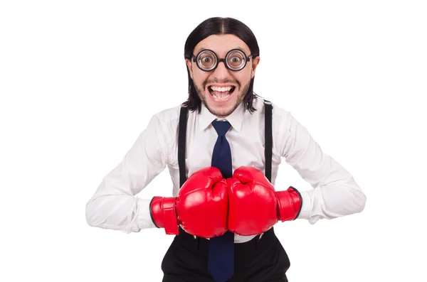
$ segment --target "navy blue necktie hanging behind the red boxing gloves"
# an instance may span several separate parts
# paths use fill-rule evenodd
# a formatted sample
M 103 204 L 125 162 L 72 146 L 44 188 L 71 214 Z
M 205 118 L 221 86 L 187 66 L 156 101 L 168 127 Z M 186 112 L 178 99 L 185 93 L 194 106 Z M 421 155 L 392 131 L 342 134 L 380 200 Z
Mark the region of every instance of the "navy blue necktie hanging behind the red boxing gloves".
M 231 149 L 226 133 L 231 124 L 228 121 L 212 121 L 218 139 L 212 153 L 212 166 L 219 168 L 223 178 L 231 178 Z M 227 231 L 209 240 L 208 271 L 216 282 L 225 282 L 234 274 L 234 234 Z

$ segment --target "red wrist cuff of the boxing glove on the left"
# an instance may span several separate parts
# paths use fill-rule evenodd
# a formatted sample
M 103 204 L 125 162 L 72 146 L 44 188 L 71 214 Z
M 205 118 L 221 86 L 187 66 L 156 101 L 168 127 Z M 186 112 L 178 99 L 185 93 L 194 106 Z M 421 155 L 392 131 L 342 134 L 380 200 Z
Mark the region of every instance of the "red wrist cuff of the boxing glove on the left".
M 166 234 L 179 234 L 175 197 L 153 197 L 149 204 L 149 215 L 154 225 L 164 228 Z

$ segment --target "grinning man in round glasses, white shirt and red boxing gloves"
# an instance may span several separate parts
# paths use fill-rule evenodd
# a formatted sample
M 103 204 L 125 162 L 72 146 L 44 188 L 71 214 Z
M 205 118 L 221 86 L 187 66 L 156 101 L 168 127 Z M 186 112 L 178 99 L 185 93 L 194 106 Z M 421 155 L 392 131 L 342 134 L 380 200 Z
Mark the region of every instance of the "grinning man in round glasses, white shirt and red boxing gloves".
M 184 48 L 188 100 L 152 116 L 88 202 L 90 226 L 175 235 L 164 282 L 288 281 L 277 222 L 364 209 L 352 175 L 289 112 L 253 93 L 259 53 L 241 21 L 200 23 Z M 311 190 L 273 186 L 281 158 Z M 173 197 L 137 197 L 166 166 Z

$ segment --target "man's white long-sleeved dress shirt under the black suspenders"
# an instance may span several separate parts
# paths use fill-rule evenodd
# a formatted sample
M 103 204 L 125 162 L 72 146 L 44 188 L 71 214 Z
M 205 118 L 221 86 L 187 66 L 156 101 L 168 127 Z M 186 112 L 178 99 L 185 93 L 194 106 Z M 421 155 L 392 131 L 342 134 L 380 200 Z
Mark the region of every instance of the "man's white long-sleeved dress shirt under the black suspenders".
M 253 166 L 265 172 L 263 99 L 254 99 L 257 111 L 244 111 L 241 104 L 226 119 L 231 124 L 226 138 L 231 146 L 233 171 Z M 122 162 L 100 183 L 86 205 L 90 226 L 139 232 L 155 228 L 149 215 L 151 199 L 137 197 L 166 166 L 172 178 L 172 194 L 179 192 L 178 124 L 181 105 L 152 116 Z M 189 111 L 186 131 L 186 172 L 211 166 L 217 134 L 211 121 L 216 116 L 202 105 L 200 114 Z M 342 217 L 364 209 L 366 197 L 352 175 L 337 161 L 323 153 L 307 129 L 286 111 L 273 104 L 272 183 L 285 159 L 312 189 L 300 191 L 302 210 L 298 219 L 314 224 L 319 219 Z M 295 187 L 297 188 L 297 187 Z M 287 187 L 276 187 L 286 190 Z M 253 236 L 235 234 L 235 242 L 246 242 Z

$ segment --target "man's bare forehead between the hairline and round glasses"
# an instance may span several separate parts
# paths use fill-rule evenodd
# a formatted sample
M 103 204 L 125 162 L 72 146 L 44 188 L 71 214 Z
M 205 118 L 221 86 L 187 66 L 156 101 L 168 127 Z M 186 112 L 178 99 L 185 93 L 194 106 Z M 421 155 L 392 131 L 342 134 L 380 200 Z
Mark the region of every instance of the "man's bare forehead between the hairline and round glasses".
M 224 56 L 231 49 L 241 49 L 246 55 L 251 53 L 248 45 L 243 40 L 234 36 L 233 34 L 221 34 L 204 38 L 194 48 L 194 54 L 199 53 L 200 50 L 210 49 L 219 56 Z

